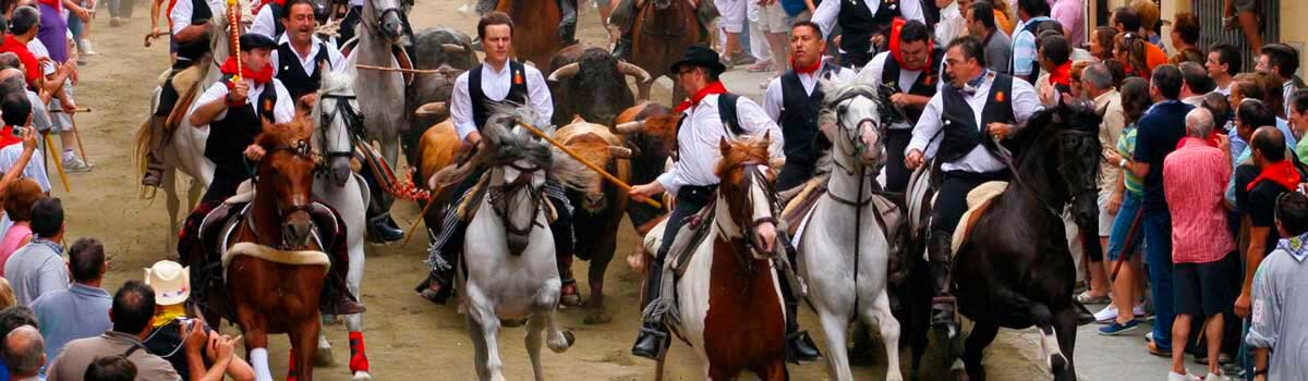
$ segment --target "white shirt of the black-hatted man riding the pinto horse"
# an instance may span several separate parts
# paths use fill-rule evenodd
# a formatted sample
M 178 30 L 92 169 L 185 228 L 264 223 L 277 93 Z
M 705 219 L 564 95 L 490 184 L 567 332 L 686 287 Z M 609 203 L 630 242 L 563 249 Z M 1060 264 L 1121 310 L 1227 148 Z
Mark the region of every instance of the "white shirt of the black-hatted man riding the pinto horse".
M 668 193 L 676 193 L 681 185 L 718 184 L 715 170 L 722 159 L 718 142 L 722 137 L 734 138 L 722 125 L 718 115 L 718 95 L 708 95 L 700 103 L 681 114 L 681 128 L 676 132 L 678 160 L 671 171 L 658 176 L 658 183 Z M 785 158 L 785 137 L 776 121 L 749 98 L 736 99 L 736 120 L 740 129 L 751 136 L 770 132 L 772 145 L 768 147 L 773 158 Z

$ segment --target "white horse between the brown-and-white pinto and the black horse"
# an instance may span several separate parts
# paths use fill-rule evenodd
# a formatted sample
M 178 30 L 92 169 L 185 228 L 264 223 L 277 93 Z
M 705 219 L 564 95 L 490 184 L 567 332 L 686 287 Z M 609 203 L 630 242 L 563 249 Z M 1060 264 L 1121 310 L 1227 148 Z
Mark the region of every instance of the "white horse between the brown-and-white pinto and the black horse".
M 808 283 L 808 301 L 827 335 L 828 374 L 854 380 L 845 352 L 846 329 L 862 320 L 880 330 L 886 344 L 886 380 L 904 380 L 899 368 L 900 324 L 886 292 L 889 243 L 872 202 L 884 142 L 876 87 L 866 84 L 821 84 L 827 93 L 819 117 L 833 142 L 827 193 L 804 217 L 798 237 L 799 273 Z

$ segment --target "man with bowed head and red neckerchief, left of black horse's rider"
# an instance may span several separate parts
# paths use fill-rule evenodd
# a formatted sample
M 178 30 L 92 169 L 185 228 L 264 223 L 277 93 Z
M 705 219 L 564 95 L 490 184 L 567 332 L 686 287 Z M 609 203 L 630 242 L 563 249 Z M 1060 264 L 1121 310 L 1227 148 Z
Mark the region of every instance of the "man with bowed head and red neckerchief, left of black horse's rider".
M 891 27 L 889 50 L 878 53 L 859 73 L 865 82 L 880 84 L 888 95 L 882 112 L 889 128 L 886 130 L 886 190 L 904 192 L 913 172 L 904 167 L 904 149 L 913 138 L 913 125 L 922 116 L 922 108 L 931 100 L 944 81 L 940 80 L 940 61 L 944 50 L 934 46 L 931 31 L 917 20 L 895 20 Z

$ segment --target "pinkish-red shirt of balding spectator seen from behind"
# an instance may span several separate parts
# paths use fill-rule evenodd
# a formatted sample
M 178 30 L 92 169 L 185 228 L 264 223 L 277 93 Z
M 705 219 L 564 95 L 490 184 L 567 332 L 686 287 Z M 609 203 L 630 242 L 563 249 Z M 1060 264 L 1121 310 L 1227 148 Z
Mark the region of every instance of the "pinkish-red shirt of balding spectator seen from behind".
M 1231 162 L 1220 149 L 1186 137 L 1163 159 L 1163 190 L 1172 211 L 1172 262 L 1207 264 L 1235 251 L 1223 193 Z

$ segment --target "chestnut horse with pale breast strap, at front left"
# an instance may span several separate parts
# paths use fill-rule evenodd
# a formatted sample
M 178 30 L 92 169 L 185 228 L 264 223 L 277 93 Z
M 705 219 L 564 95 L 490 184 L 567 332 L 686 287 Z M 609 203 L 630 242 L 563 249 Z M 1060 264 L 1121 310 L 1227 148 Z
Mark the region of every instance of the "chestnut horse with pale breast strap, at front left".
M 318 167 L 309 149 L 313 123 L 264 121 L 255 140 L 267 154 L 259 160 L 250 213 L 237 224 L 224 252 L 228 301 L 255 369 L 268 369 L 268 334 L 290 335 L 300 381 L 313 380 L 318 351 L 319 296 L 330 262 L 314 236 L 313 177 Z M 259 192 L 262 190 L 262 192 Z M 213 296 L 221 297 L 213 292 Z M 272 374 L 259 374 L 268 377 Z

